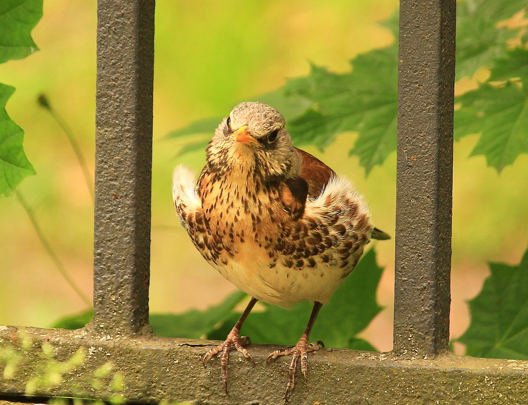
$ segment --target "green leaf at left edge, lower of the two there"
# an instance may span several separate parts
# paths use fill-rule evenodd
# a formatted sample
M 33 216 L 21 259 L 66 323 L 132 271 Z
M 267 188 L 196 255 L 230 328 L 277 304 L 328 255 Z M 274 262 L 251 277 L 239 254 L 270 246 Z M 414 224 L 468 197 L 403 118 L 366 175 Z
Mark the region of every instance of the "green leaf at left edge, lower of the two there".
M 14 91 L 14 87 L 0 83 L 0 196 L 10 195 L 25 177 L 35 174 L 22 147 L 24 131 L 5 110 Z

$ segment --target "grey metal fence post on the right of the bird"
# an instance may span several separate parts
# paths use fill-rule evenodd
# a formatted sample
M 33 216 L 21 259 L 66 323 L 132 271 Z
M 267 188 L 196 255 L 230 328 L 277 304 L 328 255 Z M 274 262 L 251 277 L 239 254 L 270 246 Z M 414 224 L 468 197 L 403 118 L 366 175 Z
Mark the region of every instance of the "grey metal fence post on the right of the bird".
M 401 0 L 394 352 L 448 349 L 455 0 Z

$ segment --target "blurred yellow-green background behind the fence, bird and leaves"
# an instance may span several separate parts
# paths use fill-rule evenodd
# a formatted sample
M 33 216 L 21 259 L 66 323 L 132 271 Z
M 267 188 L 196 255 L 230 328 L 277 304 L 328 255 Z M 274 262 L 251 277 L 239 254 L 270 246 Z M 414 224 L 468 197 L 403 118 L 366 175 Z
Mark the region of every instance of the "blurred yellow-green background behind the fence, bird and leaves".
M 170 182 L 177 163 L 199 170 L 204 154 L 176 158 L 164 139 L 195 119 L 226 115 L 244 99 L 308 73 L 309 62 L 346 71 L 348 59 L 393 41 L 376 21 L 395 0 L 168 1 L 158 0 L 154 81 L 152 312 L 181 312 L 217 303 L 234 289 L 195 251 L 173 213 Z M 41 48 L 0 65 L 0 81 L 17 88 L 7 110 L 25 130 L 25 150 L 37 175 L 20 191 L 29 200 L 65 267 L 91 295 L 92 201 L 60 128 L 36 103 L 44 92 L 79 139 L 93 174 L 96 2 L 47 0 L 33 31 Z M 325 153 L 306 148 L 352 178 L 373 219 L 394 234 L 395 154 L 365 180 L 344 134 Z M 467 158 L 476 136 L 455 145 L 452 336 L 468 325 L 465 300 L 488 274 L 486 261 L 515 263 L 526 247 L 528 158 L 498 175 L 482 156 Z M 84 305 L 59 275 L 13 197 L 0 199 L 0 324 L 49 326 Z M 386 266 L 378 291 L 386 309 L 362 334 L 381 350 L 392 342 L 394 242 L 378 242 Z M 308 316 L 308 314 L 306 314 Z M 272 319 L 270 319 L 272 322 Z M 301 331 L 299 331 L 300 333 Z M 460 352 L 461 347 L 456 347 Z

